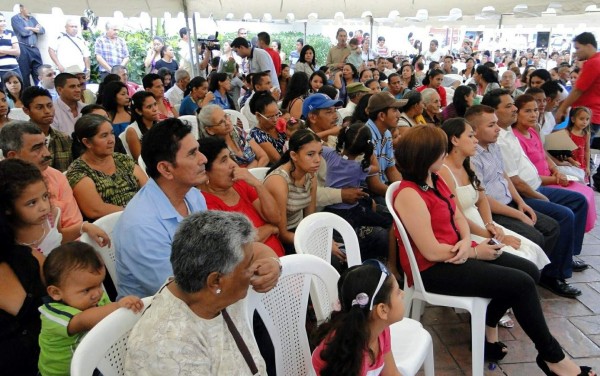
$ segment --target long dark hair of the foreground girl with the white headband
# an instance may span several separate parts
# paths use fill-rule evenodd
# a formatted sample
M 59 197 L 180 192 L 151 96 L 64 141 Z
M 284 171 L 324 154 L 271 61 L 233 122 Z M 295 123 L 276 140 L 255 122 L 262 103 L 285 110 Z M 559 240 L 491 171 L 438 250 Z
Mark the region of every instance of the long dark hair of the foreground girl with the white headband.
M 388 276 L 375 297 L 381 270 L 373 265 L 358 265 L 349 268 L 338 280 L 338 297 L 342 306 L 341 312 L 335 312 L 331 319 L 319 327 L 317 342 L 325 341 L 321 359 L 325 367 L 322 376 L 329 375 L 358 375 L 365 359 L 369 354 L 370 363 L 375 361 L 373 352 L 369 349 L 369 316 L 370 302 L 389 304 L 393 289 L 393 277 Z M 369 296 L 365 306 L 352 304 L 360 293 Z

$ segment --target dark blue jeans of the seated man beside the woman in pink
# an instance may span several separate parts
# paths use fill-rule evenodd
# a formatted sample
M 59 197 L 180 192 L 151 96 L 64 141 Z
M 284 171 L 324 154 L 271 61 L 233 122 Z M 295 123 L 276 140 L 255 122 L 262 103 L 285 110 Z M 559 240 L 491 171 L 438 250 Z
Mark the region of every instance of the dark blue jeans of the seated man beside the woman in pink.
M 534 210 L 554 218 L 560 227 L 556 246 L 548 255 L 551 263 L 544 268 L 543 274 L 552 278 L 570 278 L 573 255 L 581 253 L 587 201 L 583 195 L 566 189 L 539 187 L 538 192 L 550 201 L 525 198 L 525 202 Z

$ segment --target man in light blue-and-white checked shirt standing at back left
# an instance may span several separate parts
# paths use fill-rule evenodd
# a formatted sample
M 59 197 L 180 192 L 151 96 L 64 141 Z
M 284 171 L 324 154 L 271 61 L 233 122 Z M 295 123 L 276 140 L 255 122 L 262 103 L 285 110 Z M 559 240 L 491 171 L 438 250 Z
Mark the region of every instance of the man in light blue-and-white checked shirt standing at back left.
M 119 27 L 112 22 L 107 22 L 106 33 L 98 37 L 94 44 L 101 80 L 110 73 L 113 66 L 127 66 L 129 62 L 127 43 L 119 37 L 118 33 Z

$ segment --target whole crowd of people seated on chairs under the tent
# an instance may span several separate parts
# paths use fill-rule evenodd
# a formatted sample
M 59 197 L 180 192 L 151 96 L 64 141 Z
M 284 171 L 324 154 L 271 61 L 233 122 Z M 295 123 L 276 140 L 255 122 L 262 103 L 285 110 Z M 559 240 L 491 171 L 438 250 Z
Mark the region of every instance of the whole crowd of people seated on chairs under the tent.
M 600 122 L 593 103 L 578 99 L 589 89 L 586 67 L 592 65 L 580 69 L 577 61 L 571 67 L 560 61 L 564 54 L 546 61 L 542 52 L 521 57 L 508 50 L 492 57 L 469 43 L 453 55 L 442 53 L 437 41 L 424 55 L 389 56 L 382 37 L 378 48 L 367 47 L 365 53 L 362 34 L 348 43 L 340 29 L 326 62 L 318 62 L 308 44 L 289 54 L 290 63 L 295 59 L 290 75 L 283 51 L 269 47 L 267 33 L 261 33 L 264 48 L 259 48 L 242 31 L 224 51 L 227 61 L 196 77 L 185 70 L 186 58 L 178 63 L 173 46 L 159 37 L 145 61 L 125 56 L 108 64 L 99 52 L 98 61 L 112 69 L 101 64 L 96 104 L 83 103 L 85 72 L 58 74 L 54 99 L 42 85 L 25 88 L 29 85 L 18 73 L 4 74 L 0 271 L 13 289 L 0 288 L 0 320 L 6 323 L 1 363 L 21 360 L 21 374 L 68 369 L 72 354 L 52 341 L 55 315 L 68 317 L 60 330 L 77 342 L 116 308 L 137 312 L 139 298 L 155 295 L 132 332 L 128 373 L 164 373 L 168 353 L 153 334 L 171 325 L 177 330 L 161 333 L 173 344 L 183 334 L 206 336 L 190 342 L 205 358 L 173 345 L 178 355 L 169 358 L 172 369 L 218 368 L 228 374 L 226 367 L 243 364 L 235 346 L 213 346 L 207 334 L 223 334 L 212 320 L 224 320 L 219 312 L 225 308 L 258 369 L 268 370 L 272 359 L 263 354 L 263 360 L 261 341 L 257 346 L 241 328 L 239 303 L 249 285 L 257 291 L 275 285 L 278 257 L 296 252 L 295 230 L 306 216 L 328 211 L 348 221 L 362 258 L 378 259 L 386 275 L 395 277 L 377 288 L 381 292 L 375 290 L 370 304 L 375 301 L 380 309 L 396 304 L 389 300 L 398 294 L 396 280 L 402 272 L 409 281 L 412 275 L 384 197 L 391 183 L 402 181 L 394 208 L 413 242 L 426 287 L 492 299 L 486 357 L 497 361 L 506 355 L 496 327 L 511 321 L 503 315 L 512 308 L 539 351 L 540 367 L 578 374 L 545 324 L 535 285 L 569 298 L 582 294 L 567 280 L 588 268 L 574 256 L 596 219 L 589 150 L 592 125 Z M 108 25 L 106 38 L 113 33 L 114 25 Z M 182 40 L 186 33 L 180 32 Z M 596 48 L 593 38 L 575 42 Z M 589 53 L 581 60 L 593 58 Z M 144 64 L 141 83 L 128 81 L 127 64 Z M 586 81 L 577 80 L 578 74 Z M 241 79 L 248 86 L 235 92 L 233 83 Z M 568 99 L 569 92 L 578 97 Z M 561 134 L 578 149 L 567 156 L 550 154 L 544 140 L 558 130 L 569 107 L 569 126 Z M 11 110 L 20 108 L 29 121 L 11 119 Z M 193 119 L 181 121 L 180 115 Z M 252 175 L 255 167 L 269 168 L 264 180 Z M 116 212 L 122 214 L 112 237 L 90 223 Z M 73 243 L 83 233 L 100 246 L 114 246 L 118 303 L 111 304 L 102 291 L 106 272 L 98 255 Z M 488 244 L 490 239 L 498 244 Z M 352 280 L 360 270 L 346 270 L 339 243 L 335 238 L 332 264 Z M 207 266 L 204 258 L 214 262 Z M 73 279 L 74 270 L 89 278 L 93 304 L 81 305 L 68 295 L 82 283 Z M 510 283 L 493 289 L 498 279 Z M 523 293 L 511 294 L 515 289 Z M 340 288 L 342 293 L 346 289 Z M 46 295 L 49 303 L 42 301 Z M 349 312 L 348 302 L 342 303 L 341 316 L 375 315 L 362 303 L 360 312 Z M 177 322 L 169 314 L 173 307 L 183 315 Z M 385 343 L 385 328 L 394 320 L 377 320 L 374 340 Z M 329 364 L 344 361 L 328 351 L 339 346 L 336 328 L 344 328 L 332 324 L 340 326 L 321 337 L 313 356 L 324 372 L 346 369 Z M 28 334 L 19 335 L 23 332 Z M 355 347 L 361 354 L 369 350 Z M 385 355 L 389 348 L 380 351 L 377 364 L 393 374 Z M 359 368 L 366 369 L 358 363 L 347 369 Z

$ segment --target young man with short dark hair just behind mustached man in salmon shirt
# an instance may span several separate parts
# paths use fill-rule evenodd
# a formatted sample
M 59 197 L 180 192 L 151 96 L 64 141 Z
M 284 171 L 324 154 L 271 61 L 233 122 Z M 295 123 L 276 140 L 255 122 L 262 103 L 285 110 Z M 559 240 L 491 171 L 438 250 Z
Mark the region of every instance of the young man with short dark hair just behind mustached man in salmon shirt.
M 73 162 L 71 153 L 71 138 L 52 128 L 54 121 L 54 103 L 48 90 L 31 86 L 23 91 L 21 97 L 23 111 L 29 115 L 29 121 L 37 125 L 46 136 L 46 142 L 52 162 L 50 166 L 64 172 Z

